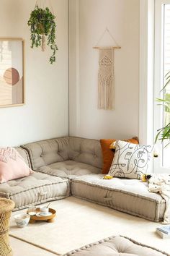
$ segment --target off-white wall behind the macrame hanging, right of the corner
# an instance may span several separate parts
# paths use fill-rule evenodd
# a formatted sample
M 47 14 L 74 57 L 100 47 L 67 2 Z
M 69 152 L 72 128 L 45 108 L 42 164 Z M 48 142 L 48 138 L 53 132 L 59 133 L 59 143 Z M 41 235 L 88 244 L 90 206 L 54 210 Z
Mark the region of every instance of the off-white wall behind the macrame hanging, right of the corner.
M 139 0 L 70 0 L 70 21 L 70 135 L 138 136 Z M 115 50 L 114 111 L 97 109 L 99 53 L 92 47 L 105 27 L 122 47 Z

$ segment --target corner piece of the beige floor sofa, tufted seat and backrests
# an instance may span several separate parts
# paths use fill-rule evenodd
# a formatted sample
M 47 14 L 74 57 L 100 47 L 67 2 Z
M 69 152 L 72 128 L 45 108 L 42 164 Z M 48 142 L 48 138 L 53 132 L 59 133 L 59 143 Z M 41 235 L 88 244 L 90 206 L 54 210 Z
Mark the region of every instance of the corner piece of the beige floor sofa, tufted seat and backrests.
M 63 137 L 22 145 L 30 155 L 32 169 L 69 179 L 84 174 L 99 174 L 102 151 L 98 140 Z

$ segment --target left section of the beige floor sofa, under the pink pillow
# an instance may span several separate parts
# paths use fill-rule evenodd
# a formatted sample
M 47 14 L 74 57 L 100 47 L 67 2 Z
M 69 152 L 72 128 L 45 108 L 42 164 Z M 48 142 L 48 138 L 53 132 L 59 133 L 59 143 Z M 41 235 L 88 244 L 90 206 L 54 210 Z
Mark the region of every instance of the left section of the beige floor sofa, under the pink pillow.
M 24 161 L 30 166 L 30 158 L 26 150 L 16 148 Z M 31 168 L 31 166 L 30 166 Z M 70 195 L 68 179 L 35 172 L 30 176 L 11 180 L 0 184 L 0 197 L 15 202 L 14 210 L 27 208 L 32 204 L 40 204 L 50 200 L 58 200 Z

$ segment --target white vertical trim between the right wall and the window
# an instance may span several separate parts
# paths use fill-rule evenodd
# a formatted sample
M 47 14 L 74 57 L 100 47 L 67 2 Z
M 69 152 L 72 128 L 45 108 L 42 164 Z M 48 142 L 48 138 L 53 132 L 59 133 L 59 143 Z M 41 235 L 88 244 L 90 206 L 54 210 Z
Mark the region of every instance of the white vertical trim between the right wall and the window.
M 153 144 L 154 5 L 154 0 L 140 0 L 140 144 Z

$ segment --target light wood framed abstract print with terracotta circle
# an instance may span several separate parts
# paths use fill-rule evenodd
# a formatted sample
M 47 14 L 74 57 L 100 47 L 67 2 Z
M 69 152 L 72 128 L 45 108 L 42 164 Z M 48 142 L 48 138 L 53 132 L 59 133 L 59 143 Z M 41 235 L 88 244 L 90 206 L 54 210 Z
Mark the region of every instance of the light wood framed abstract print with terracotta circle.
M 24 104 L 24 40 L 0 38 L 0 107 Z

